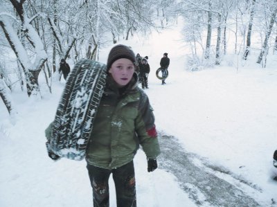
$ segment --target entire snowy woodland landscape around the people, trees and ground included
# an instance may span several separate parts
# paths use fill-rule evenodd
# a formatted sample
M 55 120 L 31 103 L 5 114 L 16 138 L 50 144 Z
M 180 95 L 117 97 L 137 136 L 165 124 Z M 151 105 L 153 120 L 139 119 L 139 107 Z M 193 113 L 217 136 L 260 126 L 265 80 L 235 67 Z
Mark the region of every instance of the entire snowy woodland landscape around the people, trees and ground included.
M 138 206 L 277 206 L 276 15 L 277 0 L 0 0 L 0 206 L 91 206 L 84 162 L 50 160 L 44 129 L 60 61 L 105 64 L 116 44 L 152 70 L 163 153 L 152 174 L 136 155 Z

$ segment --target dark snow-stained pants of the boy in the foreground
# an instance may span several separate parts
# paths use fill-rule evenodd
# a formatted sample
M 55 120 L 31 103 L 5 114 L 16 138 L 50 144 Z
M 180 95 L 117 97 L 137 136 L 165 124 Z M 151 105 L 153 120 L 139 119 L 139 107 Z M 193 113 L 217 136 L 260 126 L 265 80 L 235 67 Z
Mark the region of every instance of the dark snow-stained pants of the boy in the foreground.
M 93 190 L 93 206 L 109 206 L 109 175 L 113 174 L 117 207 L 136 207 L 136 180 L 133 161 L 113 170 L 87 164 Z

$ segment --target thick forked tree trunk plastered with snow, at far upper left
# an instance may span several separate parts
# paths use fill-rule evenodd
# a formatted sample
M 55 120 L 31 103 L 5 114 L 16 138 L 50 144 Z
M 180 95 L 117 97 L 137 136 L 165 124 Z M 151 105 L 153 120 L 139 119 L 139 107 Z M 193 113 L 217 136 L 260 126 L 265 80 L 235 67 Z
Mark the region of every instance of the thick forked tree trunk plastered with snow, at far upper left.
M 39 13 L 28 17 L 24 3 L 25 0 L 10 0 L 12 7 L 8 9 L 8 3 L 0 2 L 0 26 L 24 71 L 27 93 L 31 96 L 39 92 L 38 75 L 47 60 L 47 54 L 42 39 L 32 25 Z

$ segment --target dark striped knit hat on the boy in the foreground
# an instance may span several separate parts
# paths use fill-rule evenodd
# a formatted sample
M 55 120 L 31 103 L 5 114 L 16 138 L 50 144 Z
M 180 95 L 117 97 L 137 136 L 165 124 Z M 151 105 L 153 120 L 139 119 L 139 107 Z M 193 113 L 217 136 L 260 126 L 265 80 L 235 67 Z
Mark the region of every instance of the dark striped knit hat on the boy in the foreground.
M 111 68 L 111 64 L 113 64 L 116 60 L 120 58 L 127 58 L 128 60 L 131 60 L 131 62 L 133 62 L 134 64 L 136 62 L 136 57 L 132 49 L 123 44 L 118 44 L 111 48 L 111 51 L 109 52 L 107 60 L 107 70 Z

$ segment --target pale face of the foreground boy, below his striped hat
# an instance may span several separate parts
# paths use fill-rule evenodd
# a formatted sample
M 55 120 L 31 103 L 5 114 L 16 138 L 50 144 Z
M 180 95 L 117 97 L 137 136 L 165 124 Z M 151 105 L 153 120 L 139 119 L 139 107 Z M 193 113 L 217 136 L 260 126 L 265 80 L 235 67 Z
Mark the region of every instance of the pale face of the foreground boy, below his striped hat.
M 134 63 L 127 58 L 120 58 L 111 64 L 109 73 L 120 87 L 124 87 L 133 77 Z

